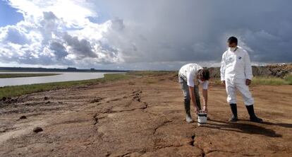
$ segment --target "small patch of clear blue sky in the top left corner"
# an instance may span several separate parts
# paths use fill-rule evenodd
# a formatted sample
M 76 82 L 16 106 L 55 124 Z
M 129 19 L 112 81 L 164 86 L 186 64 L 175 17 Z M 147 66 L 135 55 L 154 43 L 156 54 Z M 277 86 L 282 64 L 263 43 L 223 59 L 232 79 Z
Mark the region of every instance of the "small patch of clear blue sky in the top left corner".
M 15 25 L 20 21 L 23 21 L 23 14 L 18 13 L 7 1 L 0 1 L 0 27 Z

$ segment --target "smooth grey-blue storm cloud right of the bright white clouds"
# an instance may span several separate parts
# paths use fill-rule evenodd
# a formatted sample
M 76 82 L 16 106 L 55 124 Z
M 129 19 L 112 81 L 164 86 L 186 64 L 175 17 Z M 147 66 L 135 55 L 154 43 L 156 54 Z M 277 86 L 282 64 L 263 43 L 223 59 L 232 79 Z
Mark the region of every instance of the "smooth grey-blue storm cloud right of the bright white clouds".
M 107 39 L 126 62 L 219 62 L 236 35 L 253 62 L 292 62 L 292 1 L 97 1 L 123 21 Z M 135 46 L 135 48 L 133 48 Z

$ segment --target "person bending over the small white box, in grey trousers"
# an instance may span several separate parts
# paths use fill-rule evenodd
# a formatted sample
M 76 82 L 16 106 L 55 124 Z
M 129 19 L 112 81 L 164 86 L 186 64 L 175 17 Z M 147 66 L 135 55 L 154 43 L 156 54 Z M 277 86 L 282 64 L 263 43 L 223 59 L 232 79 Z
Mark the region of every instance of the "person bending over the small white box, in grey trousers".
M 193 122 L 192 116 L 190 115 L 190 100 L 192 100 L 195 107 L 195 112 L 201 110 L 200 95 L 198 85 L 202 83 L 204 107 L 203 111 L 207 112 L 207 88 L 209 83 L 209 71 L 203 69 L 198 64 L 186 64 L 181 67 L 178 72 L 178 81 L 181 84 L 181 90 L 183 91 L 184 105 L 185 105 L 185 121 L 190 123 Z

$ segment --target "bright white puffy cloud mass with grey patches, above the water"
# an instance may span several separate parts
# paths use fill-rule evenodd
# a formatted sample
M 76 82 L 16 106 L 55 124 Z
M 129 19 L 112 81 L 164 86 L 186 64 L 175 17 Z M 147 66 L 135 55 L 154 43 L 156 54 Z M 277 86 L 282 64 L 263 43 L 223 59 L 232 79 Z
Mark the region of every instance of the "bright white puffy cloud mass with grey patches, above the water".
M 0 28 L 1 62 L 76 66 L 121 61 L 102 35 L 111 21 L 90 22 L 88 17 L 97 16 L 90 3 L 11 0 L 10 4 L 23 13 L 24 21 Z

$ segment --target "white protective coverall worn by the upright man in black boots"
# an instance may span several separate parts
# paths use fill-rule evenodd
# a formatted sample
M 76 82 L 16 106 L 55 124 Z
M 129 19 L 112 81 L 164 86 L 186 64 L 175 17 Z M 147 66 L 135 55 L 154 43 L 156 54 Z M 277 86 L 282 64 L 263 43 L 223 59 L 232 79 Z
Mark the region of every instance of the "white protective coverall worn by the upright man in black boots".
M 248 52 L 241 47 L 238 47 L 235 52 L 229 48 L 222 55 L 220 72 L 221 81 L 225 81 L 226 84 L 227 102 L 236 103 L 236 90 L 238 90 L 243 96 L 245 105 L 253 105 L 253 96 L 245 84 L 246 79 L 253 79 Z

